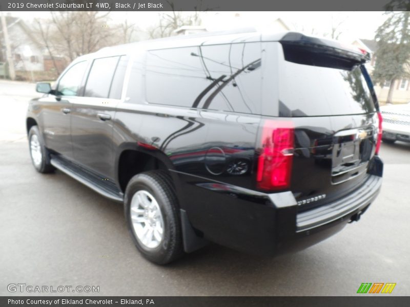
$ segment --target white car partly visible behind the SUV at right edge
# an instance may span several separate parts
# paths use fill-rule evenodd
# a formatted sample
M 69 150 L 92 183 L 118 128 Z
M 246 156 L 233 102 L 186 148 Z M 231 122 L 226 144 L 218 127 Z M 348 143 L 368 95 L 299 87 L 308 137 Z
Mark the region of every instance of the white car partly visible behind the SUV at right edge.
M 380 110 L 383 117 L 383 142 L 410 142 L 410 102 L 383 105 Z

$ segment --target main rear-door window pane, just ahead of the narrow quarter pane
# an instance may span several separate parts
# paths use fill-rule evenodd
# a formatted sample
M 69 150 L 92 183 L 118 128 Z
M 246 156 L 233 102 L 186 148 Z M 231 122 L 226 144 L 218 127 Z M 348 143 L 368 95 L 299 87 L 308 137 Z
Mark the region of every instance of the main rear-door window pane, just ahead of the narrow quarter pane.
M 95 59 L 88 74 L 84 96 L 108 98 L 119 56 Z

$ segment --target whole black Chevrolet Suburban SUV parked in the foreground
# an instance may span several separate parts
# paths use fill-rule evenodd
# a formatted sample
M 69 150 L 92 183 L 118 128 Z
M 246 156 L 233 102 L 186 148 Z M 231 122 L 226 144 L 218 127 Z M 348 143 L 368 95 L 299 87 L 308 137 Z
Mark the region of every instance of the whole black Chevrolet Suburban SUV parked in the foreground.
M 138 250 L 166 264 L 215 242 L 275 255 L 359 220 L 383 163 L 366 55 L 338 42 L 218 33 L 77 58 L 29 104 L 39 172 L 124 202 Z

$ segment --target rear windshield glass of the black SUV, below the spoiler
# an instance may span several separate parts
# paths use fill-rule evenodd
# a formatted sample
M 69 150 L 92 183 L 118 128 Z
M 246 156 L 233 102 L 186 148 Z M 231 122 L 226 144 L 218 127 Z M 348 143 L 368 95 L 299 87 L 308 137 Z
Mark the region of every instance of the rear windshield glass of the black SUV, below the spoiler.
M 340 69 L 281 60 L 278 76 L 281 117 L 352 115 L 375 111 L 359 65 Z

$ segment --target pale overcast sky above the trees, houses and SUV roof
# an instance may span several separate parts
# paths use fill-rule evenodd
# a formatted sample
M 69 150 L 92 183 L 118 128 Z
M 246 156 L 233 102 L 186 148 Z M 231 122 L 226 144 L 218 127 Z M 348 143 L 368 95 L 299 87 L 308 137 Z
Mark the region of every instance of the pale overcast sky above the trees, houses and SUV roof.
M 32 19 L 33 12 L 10 12 L 12 16 Z M 36 12 L 37 17 L 48 17 L 49 12 Z M 190 14 L 190 12 L 183 12 Z M 158 12 L 111 12 L 112 23 L 122 23 L 128 19 L 141 30 L 147 29 L 158 20 Z M 269 30 L 269 25 L 281 18 L 297 31 L 321 36 L 329 33 L 334 24 L 340 24 L 339 39 L 350 43 L 357 38 L 373 39 L 376 29 L 383 23 L 383 12 L 204 12 L 202 25 L 209 31 L 254 27 Z

